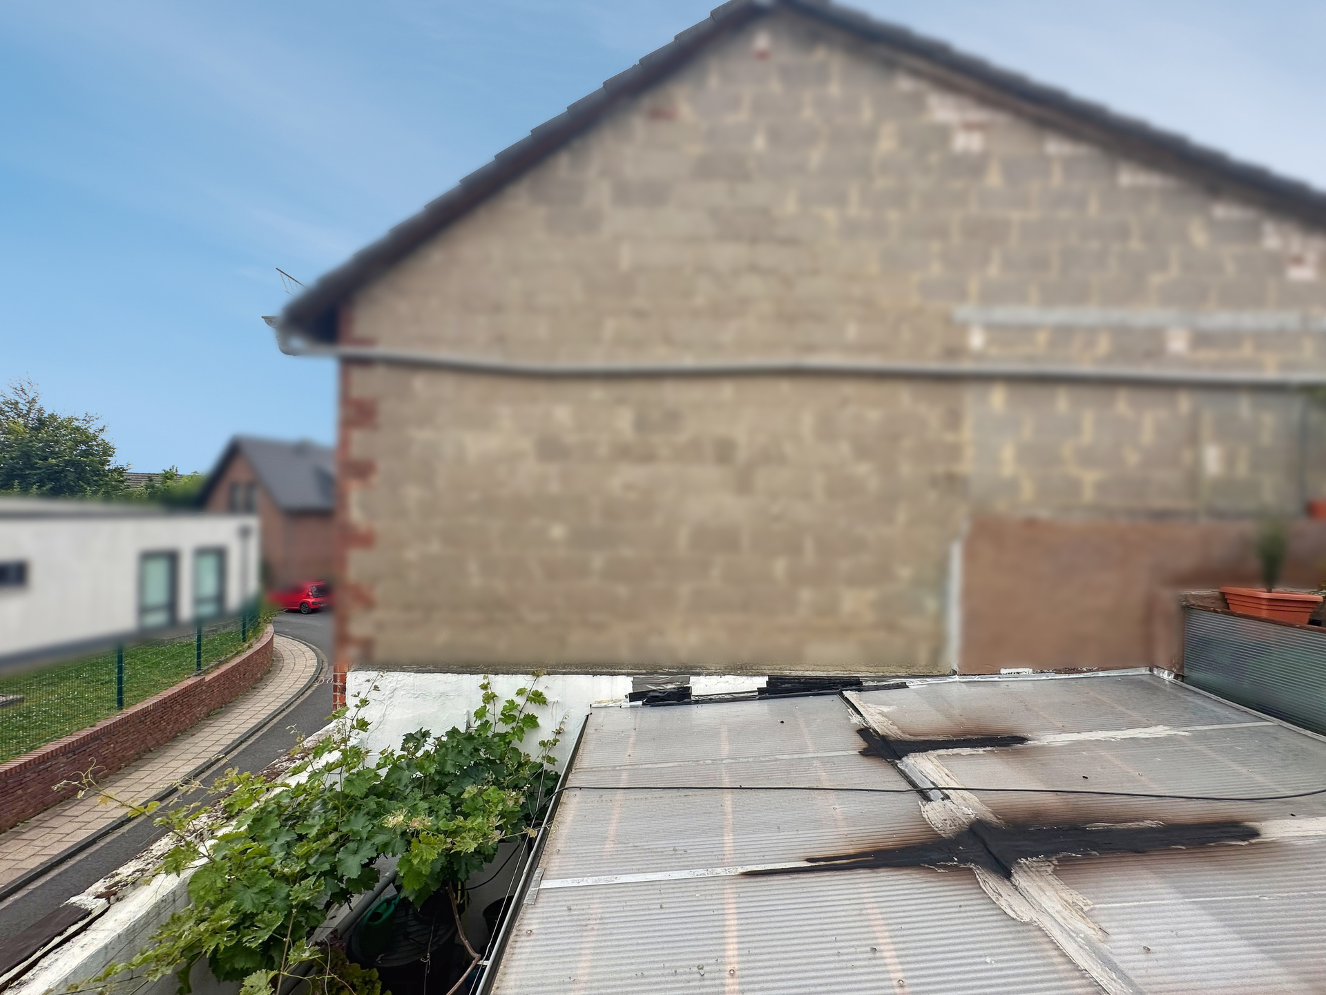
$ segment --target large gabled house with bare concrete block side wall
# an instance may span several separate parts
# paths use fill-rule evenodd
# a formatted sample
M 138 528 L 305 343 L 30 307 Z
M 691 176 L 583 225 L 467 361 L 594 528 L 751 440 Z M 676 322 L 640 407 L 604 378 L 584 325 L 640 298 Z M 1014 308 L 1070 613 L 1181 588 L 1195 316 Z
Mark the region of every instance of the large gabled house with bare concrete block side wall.
M 1057 666 L 964 620 L 1071 630 L 1065 590 L 1150 662 L 1166 543 L 1250 570 L 1319 486 L 1323 227 L 939 42 L 725 4 L 282 316 L 342 360 L 341 666 Z M 1073 559 L 1098 523 L 1152 532 Z M 973 614 L 1032 547 L 1050 622 Z

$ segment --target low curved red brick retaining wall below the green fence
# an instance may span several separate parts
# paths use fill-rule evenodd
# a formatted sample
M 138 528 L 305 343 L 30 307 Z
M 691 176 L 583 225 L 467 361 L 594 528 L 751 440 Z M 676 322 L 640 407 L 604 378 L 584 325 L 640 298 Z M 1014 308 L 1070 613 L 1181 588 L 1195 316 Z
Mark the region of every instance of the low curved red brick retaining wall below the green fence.
M 93 765 L 98 777 L 114 773 L 239 698 L 271 670 L 273 637 L 268 626 L 252 647 L 203 677 L 0 764 L 0 832 L 76 793 L 76 788 L 52 791 L 60 781 Z

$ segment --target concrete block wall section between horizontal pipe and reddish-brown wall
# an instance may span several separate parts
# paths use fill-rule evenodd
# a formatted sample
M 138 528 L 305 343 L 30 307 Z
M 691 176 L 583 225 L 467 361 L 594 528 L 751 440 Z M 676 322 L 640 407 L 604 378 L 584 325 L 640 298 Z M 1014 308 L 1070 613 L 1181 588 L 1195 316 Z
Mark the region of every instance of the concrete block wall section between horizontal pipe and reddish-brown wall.
M 1326 440 L 1292 391 L 994 383 L 967 403 L 987 513 L 1294 515 Z

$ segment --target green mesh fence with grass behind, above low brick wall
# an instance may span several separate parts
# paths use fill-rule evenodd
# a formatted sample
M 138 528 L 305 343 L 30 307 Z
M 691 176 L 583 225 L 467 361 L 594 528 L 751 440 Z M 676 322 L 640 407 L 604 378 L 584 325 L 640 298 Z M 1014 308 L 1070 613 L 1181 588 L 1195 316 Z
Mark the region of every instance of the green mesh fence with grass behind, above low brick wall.
M 206 674 L 251 642 L 269 617 L 269 612 L 253 606 L 187 631 L 172 630 L 95 655 L 0 673 L 0 763 Z

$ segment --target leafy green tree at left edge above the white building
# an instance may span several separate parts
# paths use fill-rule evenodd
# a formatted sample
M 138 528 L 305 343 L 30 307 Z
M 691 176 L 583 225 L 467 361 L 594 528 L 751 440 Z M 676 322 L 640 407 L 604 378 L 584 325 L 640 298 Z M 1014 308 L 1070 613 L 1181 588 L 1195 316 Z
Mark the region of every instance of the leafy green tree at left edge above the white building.
M 123 490 L 125 467 L 95 415 L 48 411 L 27 378 L 0 391 L 0 491 L 114 498 Z

